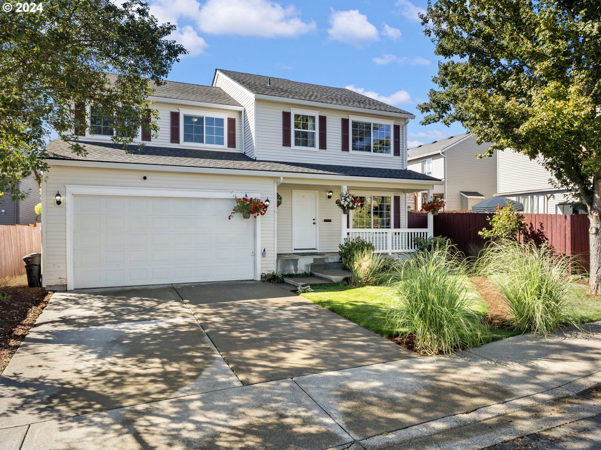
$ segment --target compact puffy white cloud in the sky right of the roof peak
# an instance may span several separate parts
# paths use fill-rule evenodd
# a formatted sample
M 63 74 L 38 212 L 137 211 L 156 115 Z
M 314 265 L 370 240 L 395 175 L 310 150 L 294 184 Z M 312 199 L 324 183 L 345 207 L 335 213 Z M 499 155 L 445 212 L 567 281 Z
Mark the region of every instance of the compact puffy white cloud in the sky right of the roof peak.
M 360 47 L 377 41 L 380 35 L 377 28 L 359 10 L 334 11 L 329 18 L 330 39 Z

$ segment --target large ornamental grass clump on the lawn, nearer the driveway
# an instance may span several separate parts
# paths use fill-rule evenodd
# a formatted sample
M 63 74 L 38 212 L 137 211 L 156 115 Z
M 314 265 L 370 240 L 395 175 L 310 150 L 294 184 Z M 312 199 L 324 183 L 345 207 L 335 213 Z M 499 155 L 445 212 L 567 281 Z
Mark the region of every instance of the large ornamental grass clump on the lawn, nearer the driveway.
M 415 351 L 453 353 L 487 341 L 484 311 L 469 290 L 465 263 L 453 245 L 416 252 L 390 277 L 395 291 L 389 321 L 415 337 Z

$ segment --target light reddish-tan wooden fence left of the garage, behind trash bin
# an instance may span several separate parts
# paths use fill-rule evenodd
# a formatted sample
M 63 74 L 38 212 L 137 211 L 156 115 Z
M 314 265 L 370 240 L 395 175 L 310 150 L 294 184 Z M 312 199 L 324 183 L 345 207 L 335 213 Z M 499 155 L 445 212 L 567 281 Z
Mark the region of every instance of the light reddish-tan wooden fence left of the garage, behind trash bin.
M 22 257 L 41 252 L 40 224 L 0 225 L 0 280 L 25 273 Z

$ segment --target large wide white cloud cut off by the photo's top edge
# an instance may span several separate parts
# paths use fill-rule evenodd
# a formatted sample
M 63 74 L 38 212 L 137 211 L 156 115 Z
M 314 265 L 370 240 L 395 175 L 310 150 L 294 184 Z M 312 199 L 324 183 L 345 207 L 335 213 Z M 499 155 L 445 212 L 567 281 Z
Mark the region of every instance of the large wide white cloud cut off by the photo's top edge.
M 315 22 L 303 22 L 293 5 L 268 0 L 208 0 L 198 16 L 200 29 L 212 34 L 259 37 L 296 37 L 313 31 Z

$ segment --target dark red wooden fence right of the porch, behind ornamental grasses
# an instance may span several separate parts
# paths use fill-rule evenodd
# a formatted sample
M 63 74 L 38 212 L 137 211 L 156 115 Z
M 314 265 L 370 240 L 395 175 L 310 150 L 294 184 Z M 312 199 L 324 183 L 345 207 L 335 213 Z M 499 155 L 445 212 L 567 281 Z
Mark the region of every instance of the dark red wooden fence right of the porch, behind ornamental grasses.
M 478 235 L 483 228 L 490 229 L 486 220 L 490 214 L 477 212 L 441 212 L 434 216 L 435 236 L 450 238 L 461 251 L 469 251 L 469 244 L 484 245 Z M 548 241 L 558 253 L 577 257 L 588 271 L 589 221 L 585 214 L 523 214 L 528 226 L 526 235 L 535 242 Z

